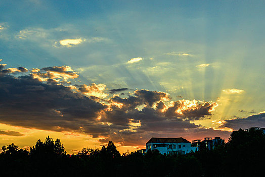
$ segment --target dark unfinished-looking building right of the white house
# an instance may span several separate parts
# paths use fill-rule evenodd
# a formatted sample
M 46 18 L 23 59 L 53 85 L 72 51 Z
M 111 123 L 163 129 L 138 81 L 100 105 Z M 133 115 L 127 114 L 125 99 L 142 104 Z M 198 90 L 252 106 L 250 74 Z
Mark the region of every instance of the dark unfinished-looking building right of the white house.
M 221 139 L 220 137 L 212 138 L 204 138 L 203 140 L 193 140 L 191 146 L 199 148 L 202 144 L 205 144 L 205 147 L 209 150 L 214 149 L 214 147 L 218 145 L 224 145 L 225 139 Z

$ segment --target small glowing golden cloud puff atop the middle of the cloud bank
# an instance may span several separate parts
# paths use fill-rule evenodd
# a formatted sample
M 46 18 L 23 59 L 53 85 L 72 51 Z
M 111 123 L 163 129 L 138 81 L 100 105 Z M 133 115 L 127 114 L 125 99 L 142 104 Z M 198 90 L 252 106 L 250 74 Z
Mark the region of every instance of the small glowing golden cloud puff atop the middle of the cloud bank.
M 86 84 L 81 85 L 78 91 L 80 91 L 81 93 L 87 96 L 94 96 L 103 99 L 108 96 L 108 94 L 105 94 L 103 92 L 105 89 L 106 89 L 105 84 L 100 83 L 97 85 L 96 83 L 92 83 L 91 85 L 86 85 Z

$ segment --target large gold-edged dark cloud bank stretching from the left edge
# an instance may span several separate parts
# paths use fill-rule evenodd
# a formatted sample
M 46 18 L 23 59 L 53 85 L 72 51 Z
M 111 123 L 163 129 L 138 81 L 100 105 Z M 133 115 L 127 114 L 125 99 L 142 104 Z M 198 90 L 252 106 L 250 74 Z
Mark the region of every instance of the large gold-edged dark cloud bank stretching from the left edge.
M 102 83 L 70 85 L 69 79 L 77 77 L 78 73 L 69 66 L 0 75 L 0 122 L 87 134 L 101 138 L 102 143 L 111 140 L 124 146 L 139 146 L 153 136 L 180 137 L 187 131 L 190 136 L 196 135 L 196 129 L 204 128 L 192 121 L 207 118 L 218 106 L 212 101 L 171 101 L 168 93 L 149 90 L 135 90 L 128 97 L 111 97 Z

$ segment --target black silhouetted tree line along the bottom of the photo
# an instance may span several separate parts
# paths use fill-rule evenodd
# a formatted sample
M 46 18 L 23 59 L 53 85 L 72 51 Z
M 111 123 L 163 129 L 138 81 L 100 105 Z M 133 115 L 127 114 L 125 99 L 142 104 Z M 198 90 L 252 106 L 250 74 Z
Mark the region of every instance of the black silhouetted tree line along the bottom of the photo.
M 0 153 L 0 176 L 258 176 L 263 173 L 265 135 L 250 128 L 233 131 L 228 143 L 208 150 L 162 155 L 149 150 L 120 154 L 113 142 L 101 149 L 66 154 L 60 140 L 48 136 L 30 150 L 14 143 Z

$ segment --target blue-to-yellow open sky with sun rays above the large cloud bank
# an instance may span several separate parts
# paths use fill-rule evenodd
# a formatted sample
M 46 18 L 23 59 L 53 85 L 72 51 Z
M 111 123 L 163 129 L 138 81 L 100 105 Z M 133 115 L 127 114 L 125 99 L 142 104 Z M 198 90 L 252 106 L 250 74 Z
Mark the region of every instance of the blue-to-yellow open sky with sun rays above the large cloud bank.
M 0 7 L 6 68 L 69 66 L 79 75 L 72 85 L 127 88 L 120 98 L 143 89 L 171 101 L 218 103 L 210 119 L 191 121 L 204 128 L 231 130 L 226 120 L 264 111 L 262 1 L 28 0 Z

